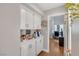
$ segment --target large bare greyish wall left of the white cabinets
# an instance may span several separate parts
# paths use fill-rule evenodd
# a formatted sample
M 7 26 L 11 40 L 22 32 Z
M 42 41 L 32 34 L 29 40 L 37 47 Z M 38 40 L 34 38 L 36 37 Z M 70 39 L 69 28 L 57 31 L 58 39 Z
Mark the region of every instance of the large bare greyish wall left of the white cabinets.
M 20 55 L 18 4 L 0 4 L 0 55 Z

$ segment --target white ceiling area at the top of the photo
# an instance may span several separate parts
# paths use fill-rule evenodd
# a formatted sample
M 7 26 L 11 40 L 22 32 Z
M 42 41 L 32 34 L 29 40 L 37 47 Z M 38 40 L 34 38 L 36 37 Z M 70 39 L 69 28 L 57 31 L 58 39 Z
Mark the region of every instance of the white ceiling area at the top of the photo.
M 64 3 L 34 3 L 42 11 L 47 11 L 52 8 L 63 6 Z

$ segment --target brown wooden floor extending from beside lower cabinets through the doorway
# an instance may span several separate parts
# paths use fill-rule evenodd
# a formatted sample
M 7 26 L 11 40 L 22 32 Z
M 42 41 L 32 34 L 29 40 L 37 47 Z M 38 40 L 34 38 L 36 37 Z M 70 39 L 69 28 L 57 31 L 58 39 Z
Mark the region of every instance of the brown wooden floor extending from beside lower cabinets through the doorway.
M 63 56 L 64 55 L 64 47 L 59 46 L 59 41 L 56 39 L 49 39 L 49 53 L 42 51 L 39 56 Z

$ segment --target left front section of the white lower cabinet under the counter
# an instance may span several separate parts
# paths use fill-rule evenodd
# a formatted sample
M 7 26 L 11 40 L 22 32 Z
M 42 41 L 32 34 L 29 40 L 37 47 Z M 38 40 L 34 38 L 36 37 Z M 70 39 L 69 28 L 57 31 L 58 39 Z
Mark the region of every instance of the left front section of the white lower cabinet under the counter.
M 26 40 L 21 43 L 21 56 L 35 56 L 35 40 Z

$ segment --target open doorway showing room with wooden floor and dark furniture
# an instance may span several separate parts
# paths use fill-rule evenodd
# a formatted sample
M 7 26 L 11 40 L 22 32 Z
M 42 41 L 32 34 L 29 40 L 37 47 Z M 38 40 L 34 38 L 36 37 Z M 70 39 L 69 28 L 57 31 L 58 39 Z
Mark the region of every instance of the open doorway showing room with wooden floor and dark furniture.
M 49 56 L 64 56 L 64 15 L 49 19 Z

